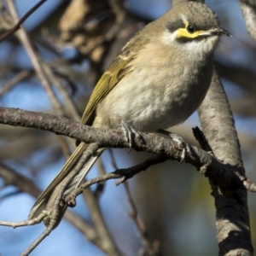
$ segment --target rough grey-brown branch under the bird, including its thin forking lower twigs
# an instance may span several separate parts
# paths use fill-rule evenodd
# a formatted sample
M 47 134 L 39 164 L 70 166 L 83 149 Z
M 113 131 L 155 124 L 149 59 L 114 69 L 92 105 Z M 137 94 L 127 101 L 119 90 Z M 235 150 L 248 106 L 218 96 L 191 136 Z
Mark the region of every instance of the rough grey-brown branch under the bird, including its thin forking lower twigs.
M 24 111 L 15 108 L 0 108 L 0 124 L 8 125 L 19 125 L 31 128 L 38 128 L 44 131 L 53 131 L 57 134 L 66 135 L 83 141 L 84 143 L 90 143 L 92 151 L 85 154 L 79 160 L 78 165 L 73 169 L 72 172 L 67 176 L 63 183 L 60 184 L 60 188 L 55 189 L 57 196 L 55 197 L 54 206 L 40 214 L 40 218 L 35 218 L 32 221 L 28 221 L 27 224 L 37 224 L 43 218 L 49 219 L 48 228 L 44 233 L 38 237 L 29 247 L 24 255 L 31 252 L 40 241 L 48 236 L 51 230 L 55 227 L 56 219 L 60 215 L 60 211 L 63 209 L 59 205 L 61 201 L 62 192 L 65 186 L 77 172 L 80 170 L 80 166 L 83 165 L 83 159 L 87 160 L 96 148 L 124 148 L 129 147 L 129 143 L 126 141 L 126 137 L 123 131 L 119 130 L 102 130 L 96 129 L 90 126 L 82 125 L 73 120 L 66 118 L 56 117 L 55 115 L 48 113 L 36 113 L 30 111 Z M 145 161 L 143 164 L 133 166 L 124 170 L 117 170 L 113 173 L 108 173 L 102 177 L 96 177 L 90 181 L 83 183 L 78 189 L 74 189 L 70 195 L 65 197 L 67 205 L 73 204 L 76 195 L 83 192 L 84 189 L 88 188 L 93 183 L 102 183 L 108 179 L 121 178 L 122 181 L 132 177 L 138 172 L 142 172 L 150 165 L 156 164 L 160 161 L 171 159 L 178 160 L 182 159 L 183 148 L 177 148 L 177 143 L 172 139 L 166 139 L 165 137 L 159 137 L 154 134 L 144 134 L 139 132 L 139 135 L 143 138 L 136 138 L 133 143 L 133 148 L 137 151 L 145 151 L 148 153 L 159 154 L 154 158 Z M 191 153 L 191 154 L 190 154 Z M 195 166 L 201 173 L 210 177 L 214 183 L 218 183 L 218 186 L 227 196 L 236 193 L 237 189 L 251 189 L 256 190 L 255 184 L 251 183 L 247 177 L 241 176 L 239 172 L 236 172 L 236 166 L 224 165 L 214 158 L 211 154 L 201 150 L 200 148 L 190 147 L 190 152 L 187 155 L 186 162 Z M 235 170 L 235 172 L 234 172 Z M 65 207 L 65 205 L 64 205 Z M 0 223 L 4 225 L 14 226 L 6 222 Z M 20 225 L 26 224 L 21 222 Z

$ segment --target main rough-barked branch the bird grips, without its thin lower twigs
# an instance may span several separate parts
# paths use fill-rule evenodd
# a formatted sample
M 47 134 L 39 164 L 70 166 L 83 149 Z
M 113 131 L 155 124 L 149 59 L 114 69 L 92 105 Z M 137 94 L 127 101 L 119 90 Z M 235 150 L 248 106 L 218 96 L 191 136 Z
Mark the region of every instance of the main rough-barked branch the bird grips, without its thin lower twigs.
M 37 128 L 44 131 L 52 131 L 56 134 L 79 139 L 84 143 L 98 143 L 99 148 L 128 148 L 129 143 L 121 130 L 96 129 L 83 125 L 70 119 L 57 117 L 49 113 L 37 113 L 24 111 L 17 108 L 0 108 L 0 124 Z M 133 148 L 159 154 L 169 160 L 180 161 L 183 148 L 171 138 L 160 137 L 155 134 L 138 132 L 143 137 L 143 142 L 135 138 Z M 211 154 L 195 146 L 190 147 L 191 154 L 187 154 L 185 162 L 211 177 L 225 193 L 232 194 L 236 189 L 247 189 L 255 192 L 254 183 L 239 173 L 237 165 L 224 164 Z

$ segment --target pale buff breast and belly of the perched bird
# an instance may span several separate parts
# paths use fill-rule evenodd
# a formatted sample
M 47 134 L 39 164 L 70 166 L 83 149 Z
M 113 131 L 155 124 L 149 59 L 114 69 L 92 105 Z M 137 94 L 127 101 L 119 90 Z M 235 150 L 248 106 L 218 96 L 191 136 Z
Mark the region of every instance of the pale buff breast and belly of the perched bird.
M 98 119 L 110 128 L 123 120 L 148 132 L 182 123 L 199 107 L 211 81 L 212 67 L 199 64 L 154 60 L 134 68 L 99 104 Z

